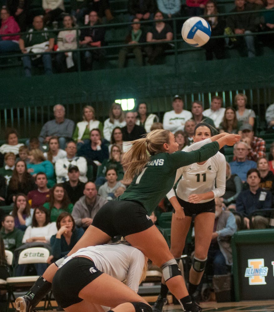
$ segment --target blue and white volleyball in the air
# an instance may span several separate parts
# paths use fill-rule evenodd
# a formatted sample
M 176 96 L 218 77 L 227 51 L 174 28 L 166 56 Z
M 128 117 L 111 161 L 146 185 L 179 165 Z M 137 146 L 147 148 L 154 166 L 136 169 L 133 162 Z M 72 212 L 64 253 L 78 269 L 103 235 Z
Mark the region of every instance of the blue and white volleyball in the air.
M 210 35 L 210 25 L 201 17 L 190 17 L 183 24 L 182 37 L 190 46 L 203 46 L 209 41 Z

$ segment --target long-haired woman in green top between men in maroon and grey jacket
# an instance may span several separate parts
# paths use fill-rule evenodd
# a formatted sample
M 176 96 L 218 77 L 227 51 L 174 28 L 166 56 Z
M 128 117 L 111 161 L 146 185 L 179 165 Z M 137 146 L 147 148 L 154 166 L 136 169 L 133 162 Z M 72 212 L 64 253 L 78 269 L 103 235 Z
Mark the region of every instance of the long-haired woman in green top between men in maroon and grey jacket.
M 56 222 L 62 212 L 71 213 L 73 208 L 73 204 L 70 203 L 68 194 L 62 184 L 55 184 L 50 189 L 49 201 L 45 202 L 43 206 L 49 210 L 51 222 Z

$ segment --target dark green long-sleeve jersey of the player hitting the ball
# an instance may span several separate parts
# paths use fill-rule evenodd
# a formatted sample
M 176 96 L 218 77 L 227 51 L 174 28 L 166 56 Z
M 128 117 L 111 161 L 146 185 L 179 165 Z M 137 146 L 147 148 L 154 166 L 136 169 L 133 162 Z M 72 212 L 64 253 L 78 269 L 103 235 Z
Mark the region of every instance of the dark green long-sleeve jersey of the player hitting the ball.
M 177 151 L 172 154 L 159 153 L 151 156 L 142 172 L 134 177 L 118 200 L 140 202 L 148 215 L 151 215 L 161 199 L 173 187 L 178 168 L 205 161 L 214 156 L 218 150 L 218 142 L 212 142 L 191 152 Z

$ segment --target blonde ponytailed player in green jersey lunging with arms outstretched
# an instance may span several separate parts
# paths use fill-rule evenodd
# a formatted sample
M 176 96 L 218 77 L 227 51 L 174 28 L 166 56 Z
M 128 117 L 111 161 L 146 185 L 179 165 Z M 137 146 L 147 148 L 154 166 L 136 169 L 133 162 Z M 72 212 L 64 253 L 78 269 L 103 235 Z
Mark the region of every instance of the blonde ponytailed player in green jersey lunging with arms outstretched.
M 154 130 L 146 138 L 132 141 L 132 148 L 123 155 L 123 164 L 127 168 L 124 179 L 131 179 L 132 183 L 117 200 L 100 208 L 92 225 L 68 255 L 79 248 L 105 244 L 111 237 L 122 235 L 133 247 L 141 250 L 162 268 L 166 284 L 180 300 L 183 310 L 200 311 L 188 295 L 184 279 L 166 240 L 148 216 L 172 188 L 178 168 L 205 161 L 225 144 L 233 145 L 239 139 L 240 136 L 236 134 L 219 134 L 209 139 L 209 144 L 199 142 L 198 146 L 204 146 L 189 153 L 178 151 L 174 134 L 168 130 Z M 52 264 L 31 290 L 20 297 L 20 303 L 28 307 L 25 311 L 29 311 L 29 307 L 33 308 L 41 300 L 41 296 L 49 291 L 56 271 L 57 267 Z M 121 295 L 121 291 L 119 294 Z M 125 302 L 127 299 L 119 297 L 116 304 Z M 149 308 L 146 311 L 152 310 Z

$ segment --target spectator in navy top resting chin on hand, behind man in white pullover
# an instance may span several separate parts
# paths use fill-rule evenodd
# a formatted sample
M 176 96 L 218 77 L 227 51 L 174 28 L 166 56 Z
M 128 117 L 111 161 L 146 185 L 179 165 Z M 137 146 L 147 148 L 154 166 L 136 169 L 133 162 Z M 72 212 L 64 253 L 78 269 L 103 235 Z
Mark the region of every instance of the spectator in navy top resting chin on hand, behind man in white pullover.
M 94 176 L 96 177 L 97 167 L 109 156 L 108 146 L 102 143 L 101 132 L 99 129 L 92 129 L 90 131 L 89 143 L 82 145 L 77 154 L 86 158 L 88 165 L 93 166 Z

